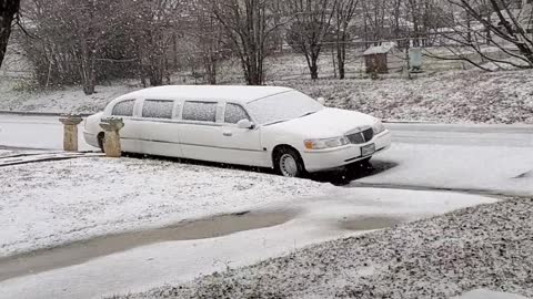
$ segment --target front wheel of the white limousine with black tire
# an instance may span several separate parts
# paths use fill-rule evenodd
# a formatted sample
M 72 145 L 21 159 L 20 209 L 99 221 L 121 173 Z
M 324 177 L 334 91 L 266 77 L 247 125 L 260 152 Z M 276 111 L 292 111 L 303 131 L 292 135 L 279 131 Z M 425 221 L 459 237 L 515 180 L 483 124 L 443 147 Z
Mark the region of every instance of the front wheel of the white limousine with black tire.
M 274 152 L 273 162 L 275 173 L 281 176 L 304 177 L 306 174 L 300 153 L 292 147 L 278 147 Z

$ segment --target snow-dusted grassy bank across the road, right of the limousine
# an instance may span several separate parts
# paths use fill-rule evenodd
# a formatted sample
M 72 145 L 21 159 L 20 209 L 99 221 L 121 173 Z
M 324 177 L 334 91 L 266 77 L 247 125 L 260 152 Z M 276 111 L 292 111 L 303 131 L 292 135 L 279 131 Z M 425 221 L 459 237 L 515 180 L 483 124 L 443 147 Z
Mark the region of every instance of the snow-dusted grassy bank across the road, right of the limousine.
M 533 124 L 531 71 L 471 70 L 415 80 L 296 80 L 279 84 L 313 97 L 325 97 L 330 106 L 358 110 L 385 120 Z

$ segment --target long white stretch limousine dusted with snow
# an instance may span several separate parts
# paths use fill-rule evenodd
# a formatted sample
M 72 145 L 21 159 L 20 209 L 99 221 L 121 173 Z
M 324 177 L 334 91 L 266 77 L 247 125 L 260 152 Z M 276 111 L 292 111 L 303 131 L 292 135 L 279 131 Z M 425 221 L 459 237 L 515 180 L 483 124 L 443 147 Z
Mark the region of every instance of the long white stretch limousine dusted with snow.
M 391 144 L 381 121 L 324 107 L 270 86 L 161 86 L 120 96 L 89 116 L 86 141 L 102 147 L 103 117 L 121 117 L 124 152 L 272 167 L 284 176 L 338 168 Z

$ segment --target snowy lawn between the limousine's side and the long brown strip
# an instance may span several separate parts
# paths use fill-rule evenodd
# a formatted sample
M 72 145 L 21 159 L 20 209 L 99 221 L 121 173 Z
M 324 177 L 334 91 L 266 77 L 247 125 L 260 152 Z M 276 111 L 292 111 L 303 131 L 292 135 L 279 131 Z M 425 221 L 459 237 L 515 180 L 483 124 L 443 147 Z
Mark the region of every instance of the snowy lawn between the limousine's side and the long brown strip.
M 330 188 L 275 175 L 130 158 L 2 167 L 0 182 L 0 257 Z

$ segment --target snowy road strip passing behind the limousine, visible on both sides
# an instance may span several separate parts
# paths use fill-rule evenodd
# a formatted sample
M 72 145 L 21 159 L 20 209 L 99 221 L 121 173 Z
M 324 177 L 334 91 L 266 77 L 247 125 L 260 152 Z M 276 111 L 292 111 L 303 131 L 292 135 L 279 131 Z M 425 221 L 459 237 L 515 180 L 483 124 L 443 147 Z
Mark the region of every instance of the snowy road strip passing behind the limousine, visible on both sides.
M 400 143 L 533 147 L 533 125 L 389 123 L 388 127 Z M 61 138 L 58 116 L 0 114 L 0 147 L 60 150 Z M 81 147 L 91 150 L 82 140 Z

